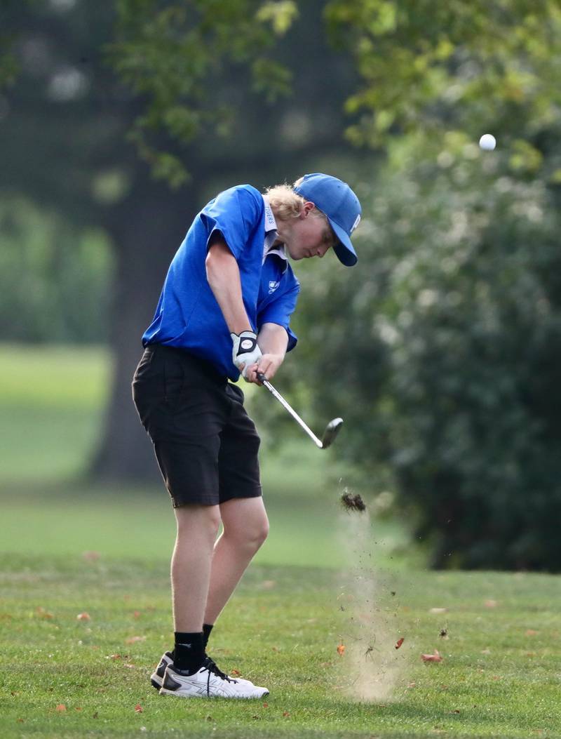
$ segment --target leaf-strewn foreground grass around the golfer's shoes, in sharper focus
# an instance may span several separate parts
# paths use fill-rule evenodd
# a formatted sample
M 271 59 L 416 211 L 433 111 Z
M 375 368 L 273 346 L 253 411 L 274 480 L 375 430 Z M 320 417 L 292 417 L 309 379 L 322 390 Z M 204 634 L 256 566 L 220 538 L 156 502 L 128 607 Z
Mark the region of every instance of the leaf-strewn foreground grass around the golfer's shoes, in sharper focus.
M 212 653 L 271 695 L 230 703 L 166 698 L 148 684 L 171 644 L 162 562 L 28 555 L 2 565 L 5 738 L 132 737 L 142 726 L 154 738 L 561 735 L 561 596 L 553 577 L 364 569 L 355 576 L 378 580 L 368 604 L 344 573 L 253 567 L 218 621 Z M 486 606 L 488 599 L 497 605 Z M 447 612 L 430 613 L 436 606 Z M 89 621 L 77 620 L 83 612 Z M 444 627 L 447 639 L 439 636 Z M 396 651 L 399 636 L 405 642 Z M 435 648 L 443 661 L 422 664 L 420 654 Z M 359 674 L 375 685 L 390 670 L 391 697 L 348 697 Z

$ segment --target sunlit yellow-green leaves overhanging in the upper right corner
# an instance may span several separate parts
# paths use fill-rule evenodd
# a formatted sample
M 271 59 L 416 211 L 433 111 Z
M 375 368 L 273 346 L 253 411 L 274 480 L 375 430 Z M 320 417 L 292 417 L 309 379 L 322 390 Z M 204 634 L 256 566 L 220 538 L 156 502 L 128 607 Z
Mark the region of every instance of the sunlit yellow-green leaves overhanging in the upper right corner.
M 559 120 L 555 0 L 331 0 L 326 21 L 363 81 L 347 102 L 355 143 L 457 129 L 509 144 Z

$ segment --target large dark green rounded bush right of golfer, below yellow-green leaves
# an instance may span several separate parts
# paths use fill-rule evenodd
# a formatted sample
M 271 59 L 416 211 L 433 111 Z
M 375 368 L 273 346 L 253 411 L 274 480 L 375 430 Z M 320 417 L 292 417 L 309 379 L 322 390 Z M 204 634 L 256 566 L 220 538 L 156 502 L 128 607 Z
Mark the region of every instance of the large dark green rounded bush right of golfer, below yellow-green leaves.
M 389 466 L 436 565 L 560 570 L 554 201 L 508 154 L 415 151 L 379 173 L 359 268 L 306 275 L 322 414 L 345 418 L 338 449 L 372 479 Z

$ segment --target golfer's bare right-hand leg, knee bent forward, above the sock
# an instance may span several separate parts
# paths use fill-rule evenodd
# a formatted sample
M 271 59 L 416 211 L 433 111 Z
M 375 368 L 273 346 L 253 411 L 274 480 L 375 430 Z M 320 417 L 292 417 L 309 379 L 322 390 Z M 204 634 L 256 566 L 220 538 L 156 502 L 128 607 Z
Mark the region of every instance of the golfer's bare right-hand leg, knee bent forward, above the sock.
M 228 500 L 221 504 L 220 513 L 224 531 L 214 546 L 205 624 L 214 624 L 269 533 L 261 497 Z

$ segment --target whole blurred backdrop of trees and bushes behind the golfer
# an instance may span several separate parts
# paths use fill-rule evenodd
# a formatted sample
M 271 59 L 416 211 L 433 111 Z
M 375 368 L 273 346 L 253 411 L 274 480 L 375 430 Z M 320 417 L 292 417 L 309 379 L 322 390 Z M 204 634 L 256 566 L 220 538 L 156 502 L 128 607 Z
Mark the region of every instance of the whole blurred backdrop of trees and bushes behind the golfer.
M 434 565 L 560 570 L 557 3 L 7 7 L 3 336 L 111 341 L 94 474 L 154 470 L 130 376 L 196 211 L 237 182 L 331 171 L 364 206 L 359 266 L 297 265 L 280 386 L 319 426 L 345 418 L 349 480 L 416 522 Z M 497 151 L 478 149 L 484 132 Z M 60 236 L 26 236 L 34 217 Z M 289 432 L 255 403 L 268 435 Z

